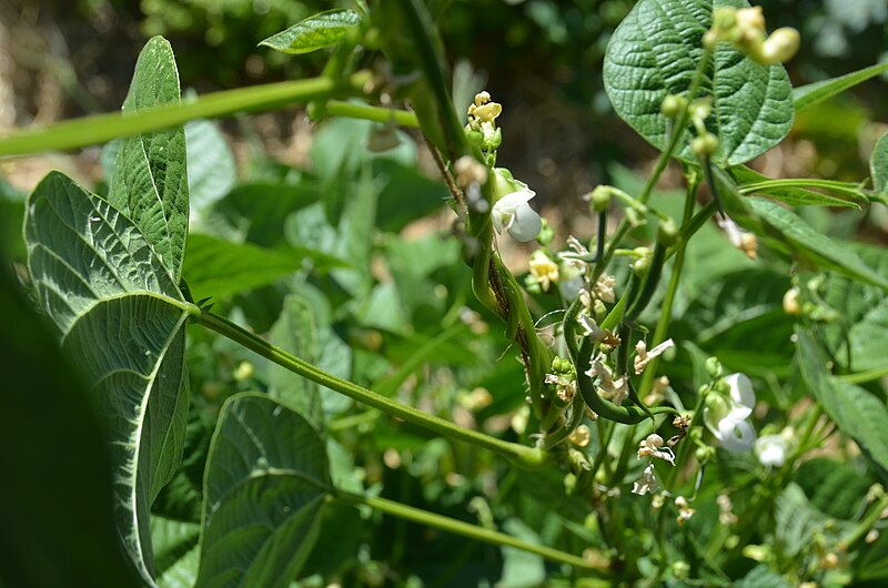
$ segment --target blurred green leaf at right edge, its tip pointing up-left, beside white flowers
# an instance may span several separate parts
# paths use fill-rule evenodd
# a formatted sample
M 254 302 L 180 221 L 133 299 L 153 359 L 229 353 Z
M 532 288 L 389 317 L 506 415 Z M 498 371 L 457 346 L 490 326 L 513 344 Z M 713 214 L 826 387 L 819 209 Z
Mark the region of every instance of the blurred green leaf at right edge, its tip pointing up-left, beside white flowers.
M 796 327 L 797 362 L 801 377 L 829 418 L 860 446 L 882 474 L 888 472 L 888 408 L 885 403 L 854 384 L 827 374 L 826 361 L 814 335 Z

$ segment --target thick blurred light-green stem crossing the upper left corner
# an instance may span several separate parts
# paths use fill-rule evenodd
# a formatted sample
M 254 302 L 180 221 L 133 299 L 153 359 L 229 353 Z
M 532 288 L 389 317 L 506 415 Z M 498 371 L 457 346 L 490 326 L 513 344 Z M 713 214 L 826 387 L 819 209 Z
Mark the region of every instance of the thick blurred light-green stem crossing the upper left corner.
M 331 95 L 361 91 L 371 73 L 363 71 L 346 80 L 310 78 L 203 95 L 186 104 L 147 109 L 137 114 L 108 113 L 31 128 L 0 139 L 0 156 L 40 151 L 68 150 L 105 143 L 118 136 L 158 131 L 193 119 L 213 119 L 236 112 L 273 110 Z

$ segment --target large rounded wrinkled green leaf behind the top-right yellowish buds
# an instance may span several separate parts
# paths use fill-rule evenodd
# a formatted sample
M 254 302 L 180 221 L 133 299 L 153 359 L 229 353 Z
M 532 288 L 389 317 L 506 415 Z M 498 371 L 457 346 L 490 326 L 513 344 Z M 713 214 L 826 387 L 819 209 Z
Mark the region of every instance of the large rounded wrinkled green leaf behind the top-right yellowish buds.
M 657 149 L 666 145 L 660 104 L 686 94 L 703 57 L 702 37 L 714 7 L 745 7 L 745 0 L 642 0 L 607 44 L 604 82 L 617 114 Z M 713 97 L 707 121 L 719 144 L 714 159 L 730 165 L 779 143 L 793 125 L 793 99 L 784 67 L 759 65 L 718 43 L 699 97 Z M 680 144 L 679 144 L 680 145 Z M 689 146 L 679 156 L 693 160 Z

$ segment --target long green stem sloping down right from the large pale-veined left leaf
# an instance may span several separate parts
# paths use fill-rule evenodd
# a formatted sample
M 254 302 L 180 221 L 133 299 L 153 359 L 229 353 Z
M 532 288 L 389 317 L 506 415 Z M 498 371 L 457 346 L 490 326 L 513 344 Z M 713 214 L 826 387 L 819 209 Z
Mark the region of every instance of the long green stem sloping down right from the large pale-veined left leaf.
M 496 437 L 491 437 L 476 430 L 467 429 L 454 425 L 453 423 L 443 418 L 423 413 L 412 406 L 407 406 L 397 402 L 386 398 L 381 394 L 369 391 L 363 386 L 359 386 L 352 382 L 341 379 L 332 374 L 327 374 L 312 364 L 300 359 L 299 357 L 285 352 L 284 349 L 269 343 L 259 335 L 250 333 L 245 328 L 235 325 L 234 323 L 223 318 L 219 315 L 203 312 L 201 313 L 198 322 L 215 331 L 244 347 L 258 353 L 266 359 L 280 365 L 281 367 L 293 372 L 302 377 L 316 382 L 317 384 L 330 388 L 340 394 L 344 394 L 360 403 L 363 403 L 373 408 L 377 408 L 389 415 L 402 418 L 407 423 L 413 423 L 428 430 L 433 430 L 444 437 L 468 443 L 476 447 L 483 447 L 495 452 L 516 465 L 524 467 L 538 467 L 546 463 L 548 455 L 538 448 L 518 445 L 516 443 L 505 442 Z

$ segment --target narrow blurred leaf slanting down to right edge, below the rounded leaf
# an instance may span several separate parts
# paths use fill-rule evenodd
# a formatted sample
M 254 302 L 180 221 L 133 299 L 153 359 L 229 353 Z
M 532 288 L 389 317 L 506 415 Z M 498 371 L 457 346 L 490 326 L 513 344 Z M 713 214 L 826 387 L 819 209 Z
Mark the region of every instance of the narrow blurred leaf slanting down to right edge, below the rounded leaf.
M 783 242 L 803 257 L 888 291 L 888 280 L 860 261 L 850 247 L 818 233 L 797 214 L 779 204 L 760 197 L 750 197 L 748 202 L 761 220 L 779 234 Z

